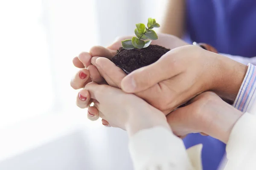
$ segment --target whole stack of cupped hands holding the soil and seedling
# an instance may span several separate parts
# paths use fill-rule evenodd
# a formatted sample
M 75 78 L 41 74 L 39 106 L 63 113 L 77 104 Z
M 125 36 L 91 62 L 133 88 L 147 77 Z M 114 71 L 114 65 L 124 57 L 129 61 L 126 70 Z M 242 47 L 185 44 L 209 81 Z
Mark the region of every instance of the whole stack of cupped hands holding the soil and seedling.
M 120 127 L 130 135 L 163 126 L 179 137 L 201 133 L 227 143 L 242 113 L 224 101 L 236 99 L 247 66 L 172 35 L 158 37 L 152 44 L 171 50 L 128 75 L 109 59 L 121 41 L 131 37 L 75 57 L 73 64 L 81 70 L 70 84 L 82 88 L 77 105 L 88 107 L 89 119 L 101 117 L 103 125 Z

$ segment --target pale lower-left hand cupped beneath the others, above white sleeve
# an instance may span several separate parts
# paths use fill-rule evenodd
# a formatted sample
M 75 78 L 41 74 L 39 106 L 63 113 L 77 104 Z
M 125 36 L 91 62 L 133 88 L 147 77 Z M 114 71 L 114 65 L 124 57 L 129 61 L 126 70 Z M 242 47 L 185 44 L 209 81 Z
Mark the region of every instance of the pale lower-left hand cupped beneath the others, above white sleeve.
M 89 119 L 97 119 L 99 116 L 109 125 L 128 130 L 130 135 L 138 130 L 154 126 L 169 128 L 166 116 L 143 99 L 134 94 L 126 94 L 118 88 L 109 85 L 98 85 L 95 82 L 88 83 L 82 93 L 90 95 L 97 109 L 94 114 L 89 114 Z

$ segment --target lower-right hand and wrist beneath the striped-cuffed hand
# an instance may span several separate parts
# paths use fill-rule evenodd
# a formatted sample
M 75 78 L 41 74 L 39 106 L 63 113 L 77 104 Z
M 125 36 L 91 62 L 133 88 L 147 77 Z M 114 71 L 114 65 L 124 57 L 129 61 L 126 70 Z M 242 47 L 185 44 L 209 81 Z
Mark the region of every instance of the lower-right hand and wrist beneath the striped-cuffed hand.
M 166 117 L 177 136 L 202 133 L 227 143 L 233 126 L 241 116 L 241 111 L 224 102 L 215 93 L 207 91 Z

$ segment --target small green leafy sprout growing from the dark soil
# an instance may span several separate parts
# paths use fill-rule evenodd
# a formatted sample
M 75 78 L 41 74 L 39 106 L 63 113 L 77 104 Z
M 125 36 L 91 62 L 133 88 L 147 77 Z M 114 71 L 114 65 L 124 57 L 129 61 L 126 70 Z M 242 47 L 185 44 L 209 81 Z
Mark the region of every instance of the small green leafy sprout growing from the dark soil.
M 127 50 L 133 48 L 146 48 L 148 45 L 150 45 L 151 40 L 157 40 L 157 33 L 153 30 L 153 28 L 158 28 L 160 25 L 155 19 L 148 18 L 147 26 L 148 28 L 146 28 L 146 26 L 142 23 L 136 24 L 137 28 L 135 28 L 134 33 L 137 37 L 132 37 L 132 39 L 122 41 L 122 48 Z

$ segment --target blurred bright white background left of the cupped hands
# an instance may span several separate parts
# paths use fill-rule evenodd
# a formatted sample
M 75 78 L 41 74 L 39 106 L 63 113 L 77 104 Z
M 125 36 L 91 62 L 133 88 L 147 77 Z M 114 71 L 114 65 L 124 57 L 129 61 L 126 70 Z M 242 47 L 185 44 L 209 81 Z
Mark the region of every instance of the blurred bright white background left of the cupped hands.
M 148 17 L 161 23 L 165 4 L 0 1 L 1 170 L 132 169 L 126 132 L 90 122 L 87 110 L 76 107 L 72 59 L 93 45 L 134 34 L 135 24 Z

